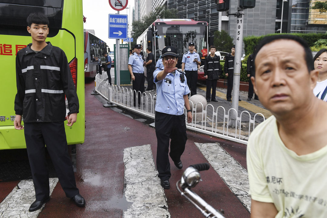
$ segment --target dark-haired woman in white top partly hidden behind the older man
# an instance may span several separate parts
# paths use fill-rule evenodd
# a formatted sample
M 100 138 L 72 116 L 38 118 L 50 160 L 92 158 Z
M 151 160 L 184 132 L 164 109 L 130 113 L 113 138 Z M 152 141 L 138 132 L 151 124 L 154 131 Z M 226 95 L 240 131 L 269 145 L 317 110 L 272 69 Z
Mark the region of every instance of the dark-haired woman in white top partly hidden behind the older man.
M 327 49 L 323 48 L 313 58 L 315 70 L 319 70 L 317 85 L 313 93 L 321 100 L 327 101 Z

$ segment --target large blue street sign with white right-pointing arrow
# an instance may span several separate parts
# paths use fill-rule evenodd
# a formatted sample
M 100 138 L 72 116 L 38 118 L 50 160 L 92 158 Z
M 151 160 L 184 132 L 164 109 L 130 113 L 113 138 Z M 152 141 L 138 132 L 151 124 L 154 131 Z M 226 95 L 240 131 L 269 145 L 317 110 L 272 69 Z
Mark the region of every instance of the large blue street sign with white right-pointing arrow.
M 127 14 L 109 14 L 109 39 L 127 39 Z

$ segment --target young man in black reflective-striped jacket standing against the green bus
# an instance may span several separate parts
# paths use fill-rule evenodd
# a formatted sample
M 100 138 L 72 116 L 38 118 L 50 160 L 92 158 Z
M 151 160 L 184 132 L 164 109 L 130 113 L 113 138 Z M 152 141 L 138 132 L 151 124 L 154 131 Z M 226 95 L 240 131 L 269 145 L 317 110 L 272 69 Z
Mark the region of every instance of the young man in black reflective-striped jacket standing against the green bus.
M 59 47 L 45 42 L 49 33 L 49 20 L 44 14 L 31 13 L 27 24 L 32 43 L 18 51 L 16 56 L 14 126 L 18 130 L 25 127 L 26 148 L 36 198 L 29 211 L 40 209 L 43 203 L 50 200 L 45 144 L 66 196 L 82 207 L 85 200 L 76 187 L 64 128 L 65 95 L 69 108 L 66 116 L 68 126 L 76 122 L 79 109 L 67 57 Z M 21 125 L 22 115 L 24 127 Z

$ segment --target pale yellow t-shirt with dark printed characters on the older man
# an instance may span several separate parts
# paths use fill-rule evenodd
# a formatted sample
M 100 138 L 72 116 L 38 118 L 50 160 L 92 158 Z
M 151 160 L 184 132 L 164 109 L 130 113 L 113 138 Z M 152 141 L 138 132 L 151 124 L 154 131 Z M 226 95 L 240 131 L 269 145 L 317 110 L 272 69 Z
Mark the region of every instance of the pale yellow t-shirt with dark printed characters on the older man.
M 276 218 L 327 217 L 327 145 L 297 155 L 284 145 L 271 116 L 250 135 L 247 166 L 251 198 L 274 203 Z

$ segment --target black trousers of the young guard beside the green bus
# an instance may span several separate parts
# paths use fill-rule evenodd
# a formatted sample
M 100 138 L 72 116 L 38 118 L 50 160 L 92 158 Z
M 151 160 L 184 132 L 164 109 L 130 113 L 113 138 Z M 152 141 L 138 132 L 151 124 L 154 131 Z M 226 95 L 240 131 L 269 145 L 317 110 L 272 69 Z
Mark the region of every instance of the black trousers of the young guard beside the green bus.
M 63 122 L 25 123 L 25 141 L 37 201 L 49 197 L 49 175 L 45 161 L 45 144 L 58 175 L 60 185 L 67 197 L 79 193 Z

